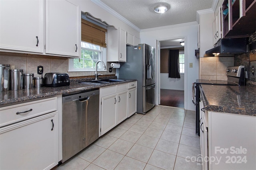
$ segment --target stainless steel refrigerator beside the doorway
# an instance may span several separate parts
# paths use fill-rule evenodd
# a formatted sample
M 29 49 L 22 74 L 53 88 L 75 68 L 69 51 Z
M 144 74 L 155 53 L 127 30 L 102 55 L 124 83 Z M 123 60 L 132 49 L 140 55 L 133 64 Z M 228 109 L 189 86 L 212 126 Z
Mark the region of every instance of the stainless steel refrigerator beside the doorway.
M 137 79 L 137 113 L 145 114 L 156 105 L 155 49 L 147 44 L 126 47 L 126 63 L 119 78 Z

